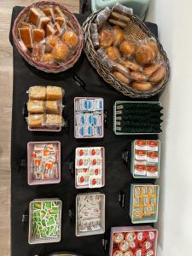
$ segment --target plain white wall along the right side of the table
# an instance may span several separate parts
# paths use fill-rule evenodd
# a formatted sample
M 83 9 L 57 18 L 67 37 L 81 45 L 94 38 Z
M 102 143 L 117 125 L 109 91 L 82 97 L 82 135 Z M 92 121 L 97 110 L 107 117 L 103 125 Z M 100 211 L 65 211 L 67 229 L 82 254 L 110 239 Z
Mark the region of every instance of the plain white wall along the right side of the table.
M 161 96 L 164 131 L 160 183 L 159 256 L 192 255 L 192 1 L 151 0 L 172 76 Z

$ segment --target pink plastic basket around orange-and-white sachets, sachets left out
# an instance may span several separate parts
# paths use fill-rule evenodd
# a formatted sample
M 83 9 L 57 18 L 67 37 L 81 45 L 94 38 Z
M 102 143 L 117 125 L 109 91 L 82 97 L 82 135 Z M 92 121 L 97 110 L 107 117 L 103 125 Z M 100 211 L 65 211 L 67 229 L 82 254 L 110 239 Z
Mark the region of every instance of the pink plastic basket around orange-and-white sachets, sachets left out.
M 49 145 L 53 144 L 56 148 L 55 164 L 56 164 L 56 177 L 46 179 L 33 179 L 32 175 L 32 151 L 35 145 Z M 27 182 L 29 185 L 53 184 L 61 182 L 61 143 L 60 142 L 30 142 L 27 143 Z

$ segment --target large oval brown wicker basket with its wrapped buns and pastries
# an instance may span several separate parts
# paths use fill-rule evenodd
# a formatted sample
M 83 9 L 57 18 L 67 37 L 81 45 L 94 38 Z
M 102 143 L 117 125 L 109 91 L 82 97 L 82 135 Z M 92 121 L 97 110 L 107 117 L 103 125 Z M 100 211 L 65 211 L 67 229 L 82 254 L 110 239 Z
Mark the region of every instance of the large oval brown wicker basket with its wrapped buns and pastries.
M 125 96 L 148 98 L 166 87 L 170 77 L 166 52 L 129 8 L 117 3 L 99 10 L 82 29 L 85 54 L 113 88 Z

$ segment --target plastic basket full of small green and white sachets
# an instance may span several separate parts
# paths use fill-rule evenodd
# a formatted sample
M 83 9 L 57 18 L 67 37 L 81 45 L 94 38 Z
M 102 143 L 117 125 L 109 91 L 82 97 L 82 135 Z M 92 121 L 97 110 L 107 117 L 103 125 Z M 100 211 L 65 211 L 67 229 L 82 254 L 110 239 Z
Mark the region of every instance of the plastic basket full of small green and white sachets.
M 30 244 L 61 241 L 61 201 L 35 199 L 29 205 Z

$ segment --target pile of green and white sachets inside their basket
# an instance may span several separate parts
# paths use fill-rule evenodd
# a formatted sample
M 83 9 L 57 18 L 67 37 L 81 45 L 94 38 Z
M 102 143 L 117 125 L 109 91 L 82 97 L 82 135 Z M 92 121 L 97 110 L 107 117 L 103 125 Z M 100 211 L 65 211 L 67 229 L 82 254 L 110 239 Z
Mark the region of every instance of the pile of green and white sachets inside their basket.
M 32 236 L 34 240 L 60 236 L 61 201 L 32 202 Z

